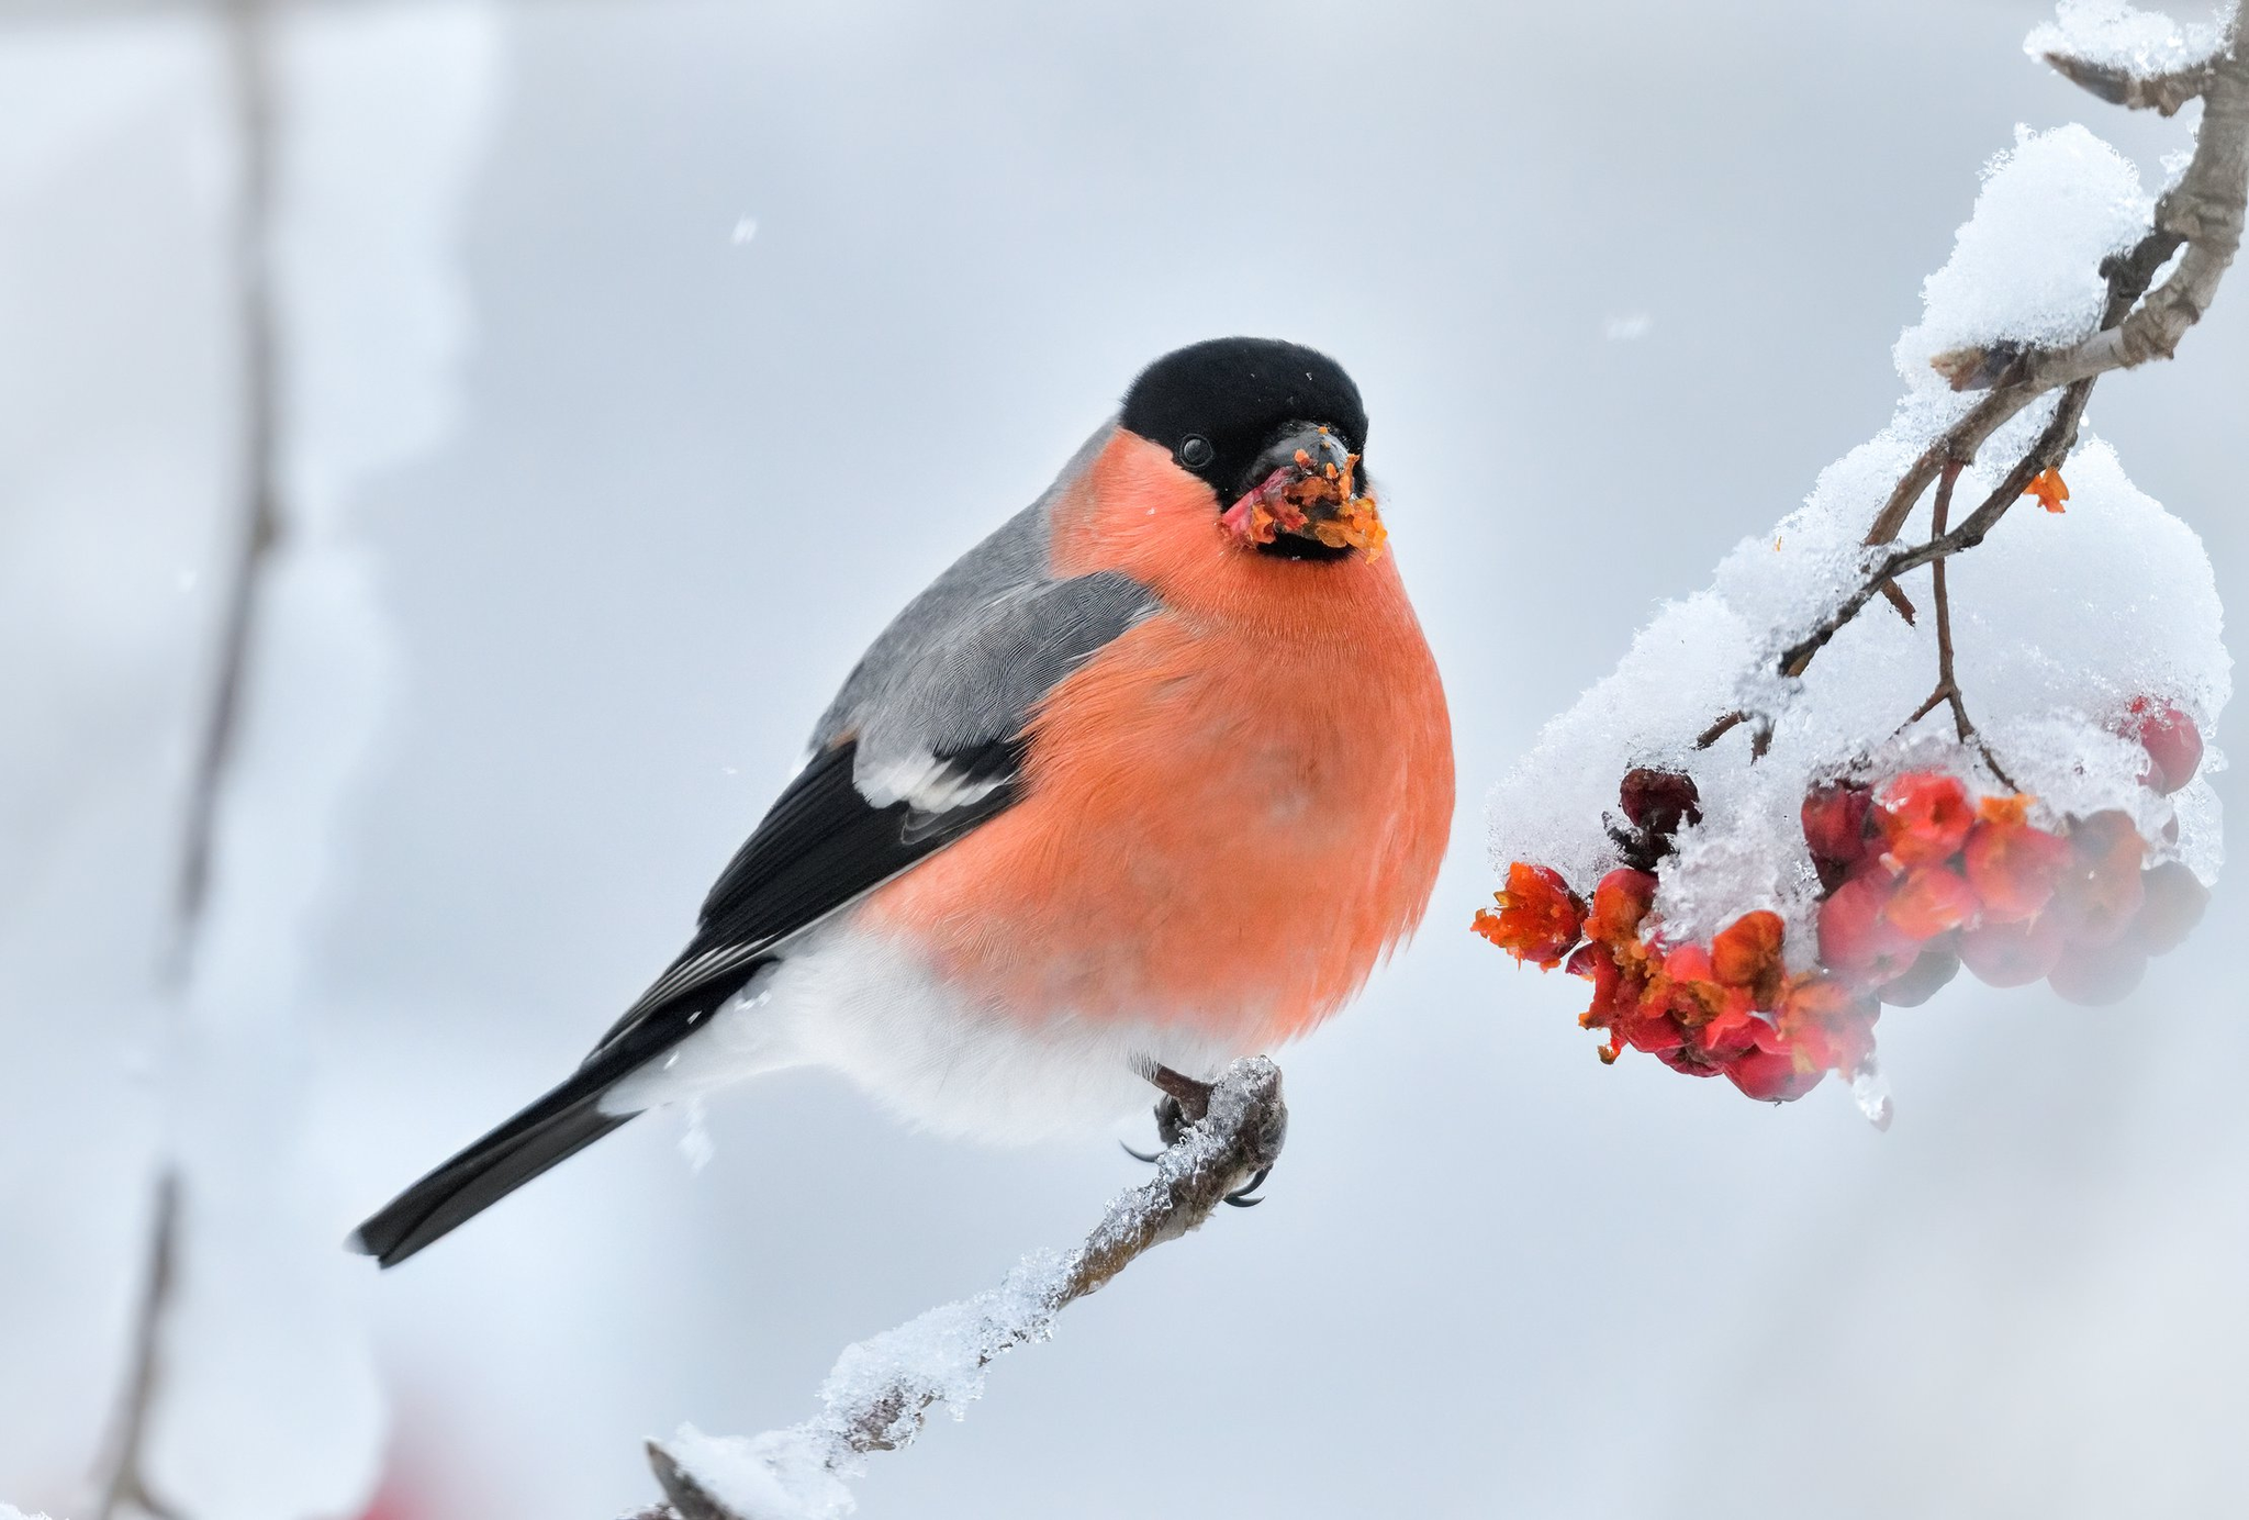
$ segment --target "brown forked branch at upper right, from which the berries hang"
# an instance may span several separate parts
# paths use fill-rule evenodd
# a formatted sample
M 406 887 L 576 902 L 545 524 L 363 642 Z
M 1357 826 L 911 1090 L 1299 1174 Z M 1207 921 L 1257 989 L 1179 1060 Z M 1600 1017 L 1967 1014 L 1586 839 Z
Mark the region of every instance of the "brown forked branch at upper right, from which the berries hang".
M 1999 344 L 1936 358 L 1939 371 L 1954 389 L 1988 387 L 1990 393 L 1907 468 L 1882 510 L 1876 513 L 1867 544 L 1896 540 L 1930 483 L 1948 468 L 1970 463 L 1990 434 L 2026 405 L 2056 389 L 2062 389 L 2062 402 L 2053 423 L 2015 463 L 1999 490 L 1959 528 L 1945 533 L 1939 526 L 1930 542 L 1887 555 L 1867 585 L 1781 654 L 1781 675 L 1804 675 L 1828 639 L 1905 571 L 1981 544 L 2024 488 L 2069 454 L 2094 380 L 2112 369 L 2170 358 L 2186 328 L 2209 310 L 2218 295 L 2218 281 L 2240 250 L 2242 207 L 2249 202 L 2249 52 L 2238 47 L 2240 20 L 2236 18 L 2231 25 L 2224 52 L 2213 63 L 2150 79 L 2125 79 L 2110 63 L 2047 54 L 2047 61 L 2065 76 L 2119 103 L 2155 106 L 2170 115 L 2179 101 L 2191 94 L 2200 97 L 2202 128 L 2195 135 L 2193 160 L 2179 182 L 2157 202 L 2155 225 L 2148 234 L 2128 254 L 2103 263 L 2101 272 L 2107 279 L 2110 297 L 2101 328 L 2092 337 L 2053 351 Z M 2182 90 L 2191 94 L 2179 94 Z M 2177 101 L 2164 108 L 2164 101 L 2173 97 Z M 2150 292 L 2155 274 L 2182 247 L 2184 254 L 2170 279 Z

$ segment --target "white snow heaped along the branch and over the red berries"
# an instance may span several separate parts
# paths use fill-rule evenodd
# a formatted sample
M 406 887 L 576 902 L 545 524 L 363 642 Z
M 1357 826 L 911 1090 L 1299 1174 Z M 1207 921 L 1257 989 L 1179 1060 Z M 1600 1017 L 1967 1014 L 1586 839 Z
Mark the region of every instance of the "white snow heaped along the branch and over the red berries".
M 2065 20 L 2071 9 L 2065 7 Z M 1754 908 L 1788 922 L 1788 958 L 1801 969 L 1815 944 L 1817 879 L 1799 827 L 1806 791 L 1831 776 L 1882 780 L 1943 769 L 1990 796 L 2008 791 L 1984 758 L 1957 740 L 1939 708 L 1905 720 L 1936 688 L 1930 571 L 1903 589 L 1918 605 L 1907 625 L 1871 600 L 1801 679 L 1779 675 L 1786 648 L 1855 587 L 1876 551 L 1862 537 L 1907 465 L 1972 398 L 1930 373 L 1936 353 L 1970 344 L 2074 342 L 2094 331 L 2105 297 L 2098 263 L 2148 225 L 2148 198 L 2128 162 L 2083 128 L 2022 133 L 1995 160 L 1950 263 L 1925 288 L 1923 319 L 1898 342 L 1909 382 L 1891 425 L 1819 474 L 1801 508 L 1770 535 L 1738 544 L 1714 582 L 1662 605 L 1613 675 L 1545 726 L 1534 751 L 1491 796 L 1491 857 L 1556 868 L 1588 890 L 1619 866 L 1606 814 L 1631 767 L 1693 776 L 1700 825 L 1678 834 L 1655 897 L 1658 933 L 1709 940 Z M 1993 436 L 1954 490 L 1957 524 L 2053 414 L 2029 407 Z M 2114 733 L 2134 697 L 2177 704 L 2209 740 L 2231 695 L 2231 659 L 2202 540 L 2125 477 L 2116 452 L 2085 438 L 2062 465 L 2065 513 L 2017 501 L 1972 553 L 1950 562 L 1957 675 L 1970 717 L 2006 773 L 2038 798 L 2053 825 L 2103 807 L 2132 814 L 2157 841 L 2155 859 L 2184 859 L 2211 881 L 2222 859 L 2215 747 L 2182 791 L 2139 782 L 2146 753 Z M 1900 542 L 1930 528 L 1923 495 Z M 1709 749 L 1714 720 L 1747 713 Z M 1752 735 L 1770 724 L 1770 751 L 1752 762 Z M 2166 839 L 2168 825 L 2177 836 Z

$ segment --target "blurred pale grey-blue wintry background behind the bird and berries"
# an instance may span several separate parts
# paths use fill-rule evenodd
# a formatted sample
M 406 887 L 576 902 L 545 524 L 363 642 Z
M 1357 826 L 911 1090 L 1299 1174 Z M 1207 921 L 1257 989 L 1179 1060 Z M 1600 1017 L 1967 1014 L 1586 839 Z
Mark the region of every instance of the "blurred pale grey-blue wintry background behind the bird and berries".
M 641 1437 L 803 1419 L 846 1342 L 1073 1241 L 1116 1144 L 805 1073 L 699 1169 L 659 1115 L 398 1273 L 335 1248 L 578 1059 L 1136 367 L 1268 333 L 1370 402 L 1455 706 L 1435 913 L 1282 1052 L 1268 1203 L 864 1513 L 2240 1513 L 2240 872 L 2121 1007 L 1891 1012 L 1887 1136 L 1604 1068 L 1579 983 L 1466 933 L 1482 791 L 1887 420 L 2013 126 L 2186 144 L 2026 61 L 2042 16 L 0 7 L 0 1500 L 94 1513 L 166 1162 L 144 1477 L 196 1520 L 614 1516 Z M 2092 407 L 2238 605 L 2245 393 L 2229 288 Z

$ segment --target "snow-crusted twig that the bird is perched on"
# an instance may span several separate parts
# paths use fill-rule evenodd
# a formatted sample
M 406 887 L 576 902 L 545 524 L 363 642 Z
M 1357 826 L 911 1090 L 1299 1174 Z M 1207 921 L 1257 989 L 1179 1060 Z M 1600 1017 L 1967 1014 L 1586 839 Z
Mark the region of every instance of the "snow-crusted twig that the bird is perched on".
M 1053 1333 L 1055 1315 L 1122 1273 L 1140 1252 L 1187 1234 L 1244 1180 L 1280 1158 L 1289 1111 L 1280 1068 L 1235 1061 L 1210 1088 L 1208 1113 L 1156 1158 L 1156 1174 L 1109 1203 L 1071 1255 L 1041 1252 L 987 1293 L 931 1309 L 848 1347 L 821 1387 L 816 1419 L 751 1441 L 693 1428 L 650 1441 L 648 1462 L 670 1507 L 636 1520 L 828 1520 L 850 1513 L 843 1480 L 877 1450 L 920 1435 L 936 1403 L 983 1394 L 983 1367 L 1001 1351 Z

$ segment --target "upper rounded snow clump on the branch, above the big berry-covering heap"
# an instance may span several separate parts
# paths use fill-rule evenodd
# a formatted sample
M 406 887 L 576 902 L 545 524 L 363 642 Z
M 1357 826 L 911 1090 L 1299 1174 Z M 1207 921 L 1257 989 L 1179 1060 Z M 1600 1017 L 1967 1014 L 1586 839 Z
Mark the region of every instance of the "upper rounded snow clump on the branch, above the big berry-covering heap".
M 1952 259 L 1921 288 L 1925 313 L 1898 337 L 1898 373 L 1941 389 L 1930 367 L 1941 353 L 2092 337 L 2107 301 L 2101 261 L 2141 238 L 2152 207 L 2132 162 L 2083 126 L 2017 126 L 2015 148 L 1984 169 Z

